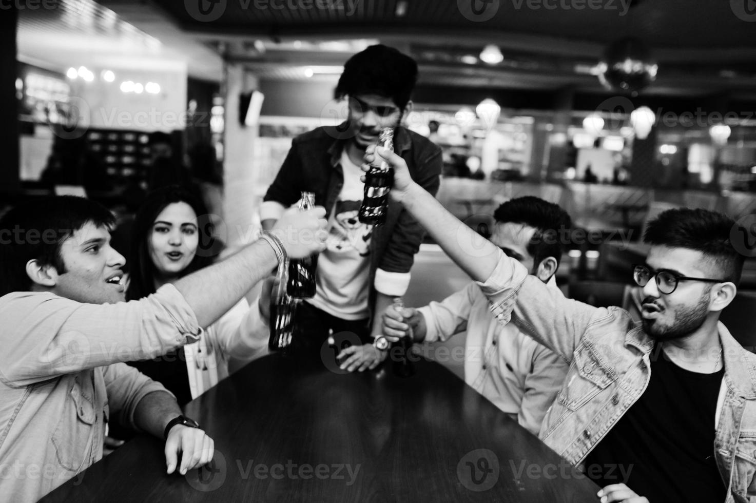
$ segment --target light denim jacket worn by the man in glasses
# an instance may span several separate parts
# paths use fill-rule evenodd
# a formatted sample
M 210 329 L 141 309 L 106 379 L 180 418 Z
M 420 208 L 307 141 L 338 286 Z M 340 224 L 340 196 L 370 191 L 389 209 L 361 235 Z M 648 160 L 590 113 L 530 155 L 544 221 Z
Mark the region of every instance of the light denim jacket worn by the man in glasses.
M 540 437 L 571 463 L 581 464 L 646 390 L 654 340 L 624 309 L 566 299 L 503 253 L 480 285 L 500 322 L 511 318 L 570 362 Z M 714 457 L 727 486 L 725 502 L 756 501 L 756 355 L 743 349 L 722 323 L 718 328 L 724 377 Z

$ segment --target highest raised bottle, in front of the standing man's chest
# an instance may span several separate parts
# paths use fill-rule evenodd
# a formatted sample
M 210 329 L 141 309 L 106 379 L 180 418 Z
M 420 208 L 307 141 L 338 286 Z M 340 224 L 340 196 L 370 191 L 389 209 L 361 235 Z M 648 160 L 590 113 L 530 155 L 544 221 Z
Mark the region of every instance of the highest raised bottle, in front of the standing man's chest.
M 394 150 L 394 130 L 383 128 L 378 140 L 379 147 Z M 389 211 L 389 191 L 394 184 L 394 170 L 376 156 L 374 164 L 365 175 L 364 196 L 358 212 L 360 222 L 369 225 L 382 225 L 386 223 L 386 214 Z

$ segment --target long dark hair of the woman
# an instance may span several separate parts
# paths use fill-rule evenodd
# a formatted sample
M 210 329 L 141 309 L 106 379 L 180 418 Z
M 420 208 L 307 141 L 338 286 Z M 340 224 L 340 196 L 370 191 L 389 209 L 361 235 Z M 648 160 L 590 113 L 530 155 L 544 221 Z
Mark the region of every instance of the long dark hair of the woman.
M 212 237 L 212 223 L 205 204 L 191 192 L 179 185 L 169 185 L 147 194 L 134 218 L 129 250 L 131 279 L 126 290 L 126 300 L 136 300 L 155 293 L 155 264 L 150 258 L 149 239 L 152 226 L 160 212 L 172 203 L 187 203 L 197 215 L 197 232 L 200 242 L 194 259 L 181 272 L 181 276 L 190 274 L 212 264 L 217 253 L 215 238 Z

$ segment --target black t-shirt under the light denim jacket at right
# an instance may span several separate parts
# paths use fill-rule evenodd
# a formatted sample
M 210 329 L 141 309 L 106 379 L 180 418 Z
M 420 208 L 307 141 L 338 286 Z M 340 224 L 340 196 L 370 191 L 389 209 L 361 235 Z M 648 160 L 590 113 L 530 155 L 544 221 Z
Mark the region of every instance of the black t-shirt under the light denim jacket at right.
M 588 477 L 602 487 L 625 483 L 652 503 L 723 501 L 714 460 L 723 375 L 686 371 L 655 346 L 649 386 L 587 456 Z

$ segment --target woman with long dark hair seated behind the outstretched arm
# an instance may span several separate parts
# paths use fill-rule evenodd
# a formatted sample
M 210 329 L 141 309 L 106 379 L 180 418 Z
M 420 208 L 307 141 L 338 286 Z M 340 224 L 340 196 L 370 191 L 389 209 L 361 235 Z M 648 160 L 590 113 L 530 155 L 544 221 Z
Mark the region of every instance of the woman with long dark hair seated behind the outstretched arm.
M 126 300 L 147 297 L 163 284 L 206 267 L 217 256 L 218 248 L 207 210 L 197 197 L 178 185 L 153 191 L 132 227 Z M 129 365 L 163 383 L 178 404 L 184 405 L 228 376 L 230 357 L 251 360 L 268 351 L 268 326 L 262 321 L 267 321 L 268 315 L 264 299 L 251 308 L 242 299 L 204 328 L 197 343 Z

